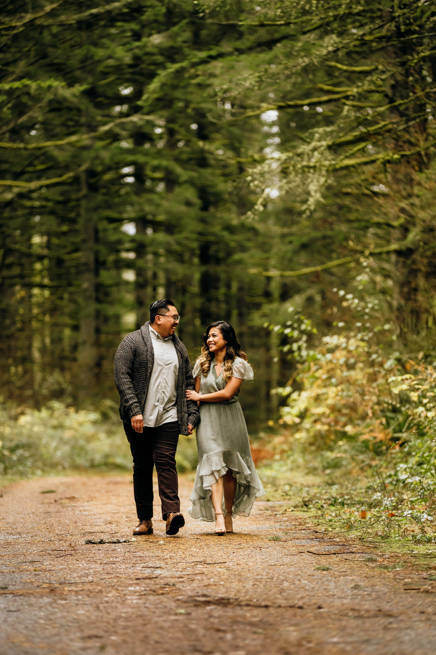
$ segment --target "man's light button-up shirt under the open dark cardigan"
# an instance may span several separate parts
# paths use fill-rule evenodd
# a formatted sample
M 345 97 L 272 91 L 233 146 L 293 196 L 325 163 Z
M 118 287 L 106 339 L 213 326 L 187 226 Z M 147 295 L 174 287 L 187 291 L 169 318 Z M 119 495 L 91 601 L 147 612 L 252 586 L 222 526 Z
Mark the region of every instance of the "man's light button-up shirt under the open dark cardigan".
M 144 426 L 157 428 L 177 421 L 178 358 L 172 337 L 162 339 L 148 326 L 154 350 L 154 365 L 144 401 Z

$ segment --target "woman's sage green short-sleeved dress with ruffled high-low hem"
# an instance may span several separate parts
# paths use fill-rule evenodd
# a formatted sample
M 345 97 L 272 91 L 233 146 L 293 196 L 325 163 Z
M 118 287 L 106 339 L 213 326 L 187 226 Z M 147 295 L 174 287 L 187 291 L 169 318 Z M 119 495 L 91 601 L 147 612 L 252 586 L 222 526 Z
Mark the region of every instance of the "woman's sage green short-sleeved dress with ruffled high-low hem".
M 193 368 L 193 377 L 201 380 L 201 394 L 213 394 L 226 386 L 222 373 L 216 376 L 215 365 L 214 359 L 207 375 L 203 375 L 198 363 Z M 233 377 L 243 380 L 252 380 L 254 377 L 252 368 L 241 357 L 236 357 L 233 362 Z M 200 404 L 201 422 L 196 430 L 199 462 L 190 497 L 192 507 L 188 510 L 193 519 L 215 520 L 210 487 L 229 468 L 237 479 L 233 516 L 250 515 L 255 498 L 265 493 L 254 468 L 238 396 L 239 392 L 230 400 Z M 224 499 L 223 514 L 227 514 Z

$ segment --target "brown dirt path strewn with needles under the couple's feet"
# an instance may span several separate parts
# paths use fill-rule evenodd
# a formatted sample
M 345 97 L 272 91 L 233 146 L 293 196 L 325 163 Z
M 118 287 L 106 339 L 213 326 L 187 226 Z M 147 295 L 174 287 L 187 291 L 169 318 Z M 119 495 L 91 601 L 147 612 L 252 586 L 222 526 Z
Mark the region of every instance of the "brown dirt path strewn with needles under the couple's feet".
M 262 499 L 249 519 L 235 521 L 236 533 L 213 536 L 212 524 L 186 514 L 192 482 L 181 479 L 180 487 L 187 518 L 180 536 L 165 537 L 155 502 L 154 535 L 97 546 L 84 542 L 131 538 L 129 476 L 3 489 L 0 654 L 435 651 L 436 595 L 428 592 L 436 582 L 424 579 L 428 571 L 412 564 L 384 571 L 380 562 L 398 555 L 378 553 L 369 563 L 374 549 L 327 538 Z M 40 493 L 48 489 L 56 493 Z M 275 535 L 282 540 L 269 539 Z

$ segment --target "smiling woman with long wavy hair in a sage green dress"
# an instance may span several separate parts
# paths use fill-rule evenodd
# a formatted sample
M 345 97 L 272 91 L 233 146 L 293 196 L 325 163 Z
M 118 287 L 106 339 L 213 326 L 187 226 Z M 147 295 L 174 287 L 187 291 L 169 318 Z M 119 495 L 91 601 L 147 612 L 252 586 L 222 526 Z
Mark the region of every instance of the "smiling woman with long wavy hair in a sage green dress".
M 224 321 L 210 324 L 192 374 L 201 422 L 197 427 L 199 464 L 188 510 L 194 519 L 216 521 L 215 534 L 233 532 L 233 516 L 248 516 L 263 496 L 250 452 L 243 411 L 238 402 L 243 380 L 253 371 L 235 330 Z M 223 502 L 224 495 L 224 502 Z

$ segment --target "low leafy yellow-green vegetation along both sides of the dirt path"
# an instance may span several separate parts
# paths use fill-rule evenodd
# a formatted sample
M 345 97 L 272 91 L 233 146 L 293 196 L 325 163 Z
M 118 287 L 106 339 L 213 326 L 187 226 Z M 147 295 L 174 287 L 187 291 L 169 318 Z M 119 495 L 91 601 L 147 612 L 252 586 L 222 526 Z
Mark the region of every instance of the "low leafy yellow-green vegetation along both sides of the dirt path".
M 322 336 L 290 303 L 265 323 L 281 340 L 288 384 L 280 419 L 252 434 L 267 501 L 301 512 L 320 530 L 358 538 L 436 541 L 436 362 L 395 350 L 395 326 L 371 274 L 354 293 L 333 288 L 343 320 Z M 336 305 L 333 305 L 336 306 Z M 3 479 L 69 470 L 130 470 L 118 407 L 93 411 L 52 401 L 40 410 L 3 404 Z M 197 465 L 194 438 L 180 437 L 177 468 Z

